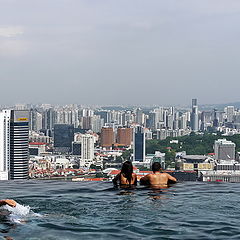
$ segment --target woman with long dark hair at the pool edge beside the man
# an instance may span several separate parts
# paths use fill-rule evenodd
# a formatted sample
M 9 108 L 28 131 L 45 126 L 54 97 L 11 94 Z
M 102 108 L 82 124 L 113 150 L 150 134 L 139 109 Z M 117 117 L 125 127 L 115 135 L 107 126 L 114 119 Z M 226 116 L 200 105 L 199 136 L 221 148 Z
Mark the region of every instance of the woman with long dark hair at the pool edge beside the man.
M 137 185 L 137 175 L 133 173 L 133 165 L 126 161 L 122 165 L 121 172 L 113 179 L 113 184 L 120 186 Z

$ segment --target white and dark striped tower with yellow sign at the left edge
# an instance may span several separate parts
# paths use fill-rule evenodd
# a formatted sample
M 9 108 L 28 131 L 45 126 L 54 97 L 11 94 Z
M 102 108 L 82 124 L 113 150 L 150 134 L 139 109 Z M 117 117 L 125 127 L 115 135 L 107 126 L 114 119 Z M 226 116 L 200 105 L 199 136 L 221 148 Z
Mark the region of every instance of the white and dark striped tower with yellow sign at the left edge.
M 0 179 L 27 179 L 29 112 L 3 110 L 0 113 Z

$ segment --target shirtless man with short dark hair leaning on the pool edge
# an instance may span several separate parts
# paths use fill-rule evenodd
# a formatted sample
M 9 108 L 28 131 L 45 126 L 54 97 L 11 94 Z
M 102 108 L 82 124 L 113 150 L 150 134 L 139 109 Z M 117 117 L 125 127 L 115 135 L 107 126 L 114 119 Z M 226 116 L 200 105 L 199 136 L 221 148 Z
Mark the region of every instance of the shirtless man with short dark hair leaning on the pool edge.
M 140 179 L 140 183 L 143 185 L 150 185 L 150 186 L 161 186 L 167 187 L 168 183 L 176 183 L 177 179 L 172 177 L 168 173 L 161 172 L 161 164 L 158 162 L 153 163 L 152 171 L 150 173 Z

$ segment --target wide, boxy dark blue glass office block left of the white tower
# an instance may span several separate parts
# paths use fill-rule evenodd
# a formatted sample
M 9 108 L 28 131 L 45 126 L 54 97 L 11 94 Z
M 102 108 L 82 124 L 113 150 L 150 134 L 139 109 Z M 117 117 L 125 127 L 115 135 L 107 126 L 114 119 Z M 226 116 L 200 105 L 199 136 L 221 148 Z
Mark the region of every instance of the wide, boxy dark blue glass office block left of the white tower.
M 55 152 L 72 152 L 72 142 L 74 140 L 74 127 L 71 124 L 54 125 L 54 150 Z

